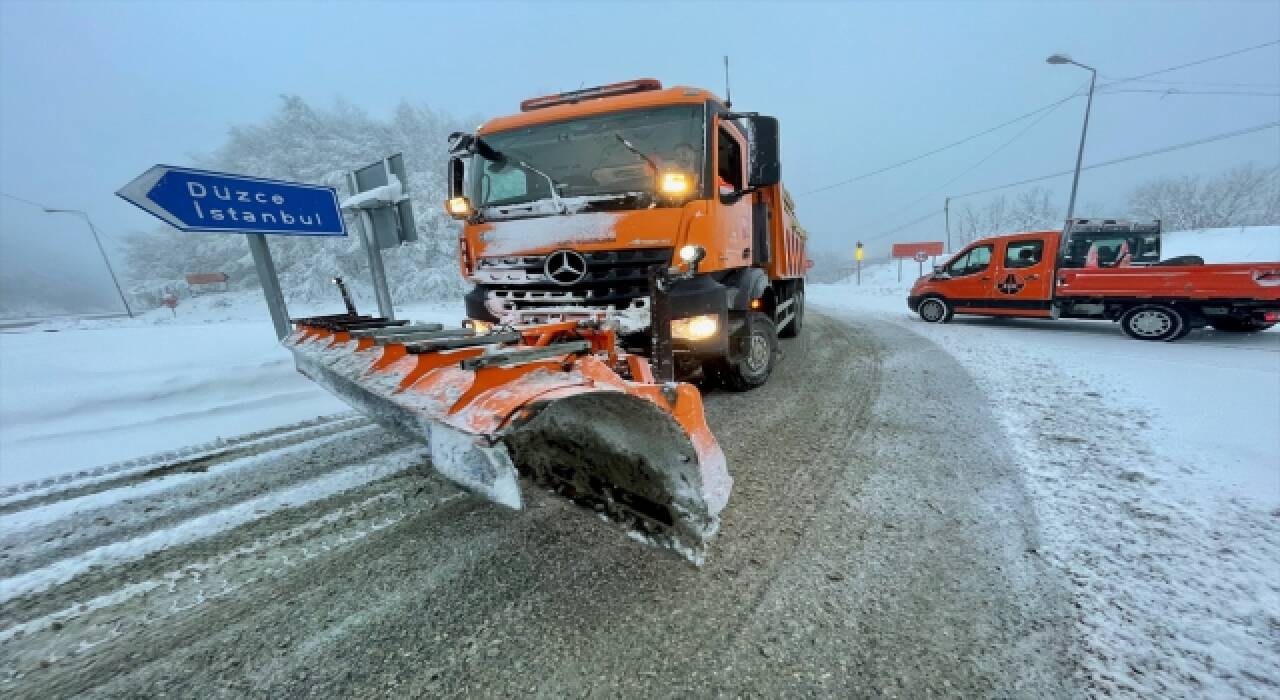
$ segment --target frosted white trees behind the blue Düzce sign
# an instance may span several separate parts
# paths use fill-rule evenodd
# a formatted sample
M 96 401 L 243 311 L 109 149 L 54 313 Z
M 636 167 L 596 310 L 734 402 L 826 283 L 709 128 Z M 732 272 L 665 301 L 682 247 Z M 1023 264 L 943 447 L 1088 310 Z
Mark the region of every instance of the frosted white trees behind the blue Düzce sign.
M 471 124 L 476 119 L 466 120 Z M 227 142 L 196 165 L 244 175 L 326 184 L 347 196 L 344 174 L 403 152 L 419 241 L 384 251 L 397 301 L 445 299 L 462 293 L 457 271 L 457 224 L 440 210 L 447 183 L 445 138 L 465 122 L 421 105 L 402 102 L 388 119 L 375 119 L 349 102 L 317 109 L 282 96 L 260 124 L 237 125 Z M 355 233 L 355 219 L 348 216 Z M 360 288 L 367 259 L 356 235 L 347 238 L 268 237 L 289 299 L 337 299 L 329 279 L 342 275 Z M 179 233 L 164 228 L 131 237 L 125 244 L 132 292 L 141 297 L 182 290 L 188 273 L 225 273 L 233 289 L 257 287 L 248 246 L 241 235 Z

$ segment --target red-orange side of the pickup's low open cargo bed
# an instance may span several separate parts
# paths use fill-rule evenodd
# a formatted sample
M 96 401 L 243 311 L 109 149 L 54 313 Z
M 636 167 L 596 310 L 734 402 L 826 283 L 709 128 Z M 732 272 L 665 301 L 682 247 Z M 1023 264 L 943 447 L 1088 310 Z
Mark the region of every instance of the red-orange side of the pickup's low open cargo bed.
M 1056 296 L 1280 301 L 1280 262 L 1062 269 Z

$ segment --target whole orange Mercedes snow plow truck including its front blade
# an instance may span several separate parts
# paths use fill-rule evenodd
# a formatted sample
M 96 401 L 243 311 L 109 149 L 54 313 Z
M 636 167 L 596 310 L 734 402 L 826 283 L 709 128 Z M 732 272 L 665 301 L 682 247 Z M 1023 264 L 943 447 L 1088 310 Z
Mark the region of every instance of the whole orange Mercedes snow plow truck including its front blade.
M 804 319 L 778 124 L 641 79 L 449 138 L 463 328 L 296 320 L 300 371 L 520 508 L 520 477 L 701 563 L 732 480 L 684 379 L 759 386 Z

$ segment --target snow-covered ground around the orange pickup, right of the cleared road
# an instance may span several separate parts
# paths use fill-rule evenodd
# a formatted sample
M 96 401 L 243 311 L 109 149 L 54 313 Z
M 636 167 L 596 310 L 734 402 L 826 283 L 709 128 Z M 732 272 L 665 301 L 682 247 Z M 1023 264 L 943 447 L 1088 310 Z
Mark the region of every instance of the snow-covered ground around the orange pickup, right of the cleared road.
M 1165 257 L 1187 253 L 1280 260 L 1280 227 L 1166 234 Z M 1036 502 L 1038 555 L 1074 586 L 1089 692 L 1275 696 L 1280 329 L 1142 343 L 1105 321 L 931 325 L 896 270 L 813 285 L 810 303 L 908 328 L 987 392 Z

